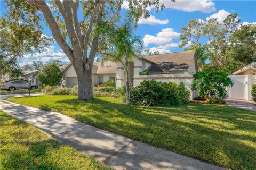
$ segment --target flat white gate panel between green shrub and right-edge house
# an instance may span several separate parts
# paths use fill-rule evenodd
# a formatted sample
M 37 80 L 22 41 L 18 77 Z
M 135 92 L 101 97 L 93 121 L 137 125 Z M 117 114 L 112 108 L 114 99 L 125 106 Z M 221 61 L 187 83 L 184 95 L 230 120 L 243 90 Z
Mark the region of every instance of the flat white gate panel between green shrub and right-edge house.
M 245 100 L 245 75 L 231 75 L 233 80 L 233 87 L 228 87 L 228 98 L 229 99 L 242 99 Z

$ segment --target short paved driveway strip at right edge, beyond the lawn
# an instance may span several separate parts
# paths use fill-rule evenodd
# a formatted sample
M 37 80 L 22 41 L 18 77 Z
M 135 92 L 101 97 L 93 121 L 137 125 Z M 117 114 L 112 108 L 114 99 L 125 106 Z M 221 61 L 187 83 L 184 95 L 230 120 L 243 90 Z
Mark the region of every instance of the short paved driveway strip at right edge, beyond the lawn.
M 256 105 L 252 101 L 226 99 L 226 104 L 231 107 L 242 108 L 249 111 L 256 111 Z

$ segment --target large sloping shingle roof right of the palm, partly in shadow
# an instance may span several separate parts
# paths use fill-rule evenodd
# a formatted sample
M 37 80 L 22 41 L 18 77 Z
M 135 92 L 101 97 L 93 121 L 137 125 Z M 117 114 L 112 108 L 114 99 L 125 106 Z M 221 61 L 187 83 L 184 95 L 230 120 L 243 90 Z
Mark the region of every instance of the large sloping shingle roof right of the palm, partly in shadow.
M 154 62 L 146 69 L 150 73 L 168 73 L 174 70 L 187 70 L 191 61 L 194 60 L 196 50 L 188 50 L 184 52 L 166 53 L 158 55 L 150 55 L 146 58 Z

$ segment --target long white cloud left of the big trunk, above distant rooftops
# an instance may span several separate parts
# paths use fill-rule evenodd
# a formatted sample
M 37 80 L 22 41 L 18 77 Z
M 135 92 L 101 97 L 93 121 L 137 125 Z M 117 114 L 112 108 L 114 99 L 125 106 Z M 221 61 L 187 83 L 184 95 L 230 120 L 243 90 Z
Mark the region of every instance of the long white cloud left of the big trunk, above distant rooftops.
M 18 60 L 20 66 L 31 64 L 32 61 L 42 61 L 44 64 L 50 63 L 54 60 L 60 60 L 61 64 L 70 63 L 68 57 L 62 50 L 55 50 L 54 46 L 46 48 L 46 52 L 36 53 L 34 55 L 25 55 L 24 58 Z

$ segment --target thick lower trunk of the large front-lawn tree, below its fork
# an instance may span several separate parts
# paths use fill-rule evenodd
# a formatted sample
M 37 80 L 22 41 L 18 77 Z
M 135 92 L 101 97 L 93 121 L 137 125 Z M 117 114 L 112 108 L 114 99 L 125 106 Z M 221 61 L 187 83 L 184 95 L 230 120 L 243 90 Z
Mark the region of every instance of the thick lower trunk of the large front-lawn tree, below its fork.
M 92 66 L 93 64 L 83 64 L 82 61 L 73 64 L 78 81 L 78 100 L 89 101 L 92 94 Z

